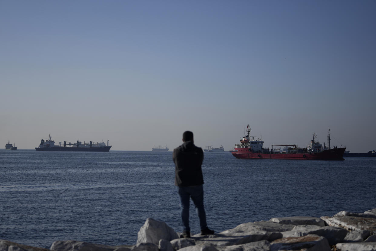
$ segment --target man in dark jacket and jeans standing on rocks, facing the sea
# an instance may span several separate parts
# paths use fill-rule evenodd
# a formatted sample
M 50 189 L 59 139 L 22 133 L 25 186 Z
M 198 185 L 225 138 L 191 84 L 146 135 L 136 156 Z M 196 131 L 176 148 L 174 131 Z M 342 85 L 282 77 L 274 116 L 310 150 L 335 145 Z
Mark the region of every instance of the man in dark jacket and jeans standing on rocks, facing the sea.
M 189 227 L 190 198 L 197 209 L 200 220 L 201 235 L 214 234 L 206 224 L 204 209 L 204 190 L 201 165 L 204 154 L 201 148 L 193 144 L 193 132 L 183 133 L 183 144 L 174 149 L 172 159 L 175 163 L 175 186 L 180 197 L 181 217 L 183 223 L 182 237 L 191 237 Z

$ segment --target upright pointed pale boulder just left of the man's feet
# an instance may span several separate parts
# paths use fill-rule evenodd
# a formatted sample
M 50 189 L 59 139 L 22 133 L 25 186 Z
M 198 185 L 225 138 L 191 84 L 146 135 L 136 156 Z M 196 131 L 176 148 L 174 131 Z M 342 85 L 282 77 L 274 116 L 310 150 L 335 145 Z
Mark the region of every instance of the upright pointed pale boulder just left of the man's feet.
M 158 245 L 161 239 L 171 241 L 177 238 L 179 238 L 177 233 L 165 222 L 147 218 L 138 231 L 136 244 L 150 242 Z

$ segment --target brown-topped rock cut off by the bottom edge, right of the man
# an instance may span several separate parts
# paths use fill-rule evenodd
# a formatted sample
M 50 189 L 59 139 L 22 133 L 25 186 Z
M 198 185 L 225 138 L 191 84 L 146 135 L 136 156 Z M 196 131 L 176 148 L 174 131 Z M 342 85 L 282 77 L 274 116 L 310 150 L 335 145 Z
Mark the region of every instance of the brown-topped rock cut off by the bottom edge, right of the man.
M 270 250 L 309 250 L 309 251 L 330 251 L 328 241 L 315 234 L 308 234 L 302 237 L 288 237 L 271 242 Z

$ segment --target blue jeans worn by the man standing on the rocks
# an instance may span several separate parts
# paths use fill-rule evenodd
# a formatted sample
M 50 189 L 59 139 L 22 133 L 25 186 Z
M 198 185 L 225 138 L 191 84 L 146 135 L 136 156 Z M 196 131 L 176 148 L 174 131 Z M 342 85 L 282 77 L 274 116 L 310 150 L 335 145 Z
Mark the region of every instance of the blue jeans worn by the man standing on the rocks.
M 177 187 L 177 193 L 179 193 L 180 198 L 180 208 L 181 217 L 183 223 L 183 231 L 190 231 L 189 227 L 189 204 L 190 198 L 196 207 L 197 216 L 200 220 L 200 228 L 204 230 L 207 228 L 206 224 L 206 214 L 204 209 L 204 189 L 202 185 L 199 186 L 188 186 L 188 187 Z

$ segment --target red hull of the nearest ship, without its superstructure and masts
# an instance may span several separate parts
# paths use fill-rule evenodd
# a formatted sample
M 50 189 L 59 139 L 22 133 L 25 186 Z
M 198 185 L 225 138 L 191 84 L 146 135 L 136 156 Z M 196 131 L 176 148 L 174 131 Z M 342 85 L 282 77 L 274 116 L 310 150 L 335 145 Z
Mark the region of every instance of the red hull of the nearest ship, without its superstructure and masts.
M 237 158 L 246 159 L 275 159 L 275 160 L 344 160 L 343 154 L 346 148 L 334 148 L 318 153 L 258 153 L 250 151 L 250 148 L 235 148 L 231 152 Z

